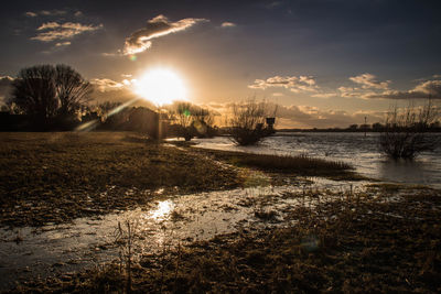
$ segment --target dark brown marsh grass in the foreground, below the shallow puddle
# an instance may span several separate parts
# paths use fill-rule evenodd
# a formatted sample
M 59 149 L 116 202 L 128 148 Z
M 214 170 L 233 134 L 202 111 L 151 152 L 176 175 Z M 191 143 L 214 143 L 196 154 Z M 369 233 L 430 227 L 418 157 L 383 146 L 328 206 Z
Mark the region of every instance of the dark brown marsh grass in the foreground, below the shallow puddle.
M 409 189 L 399 202 L 388 202 L 370 193 L 342 193 L 316 209 L 294 209 L 297 226 L 170 250 L 165 268 L 154 261 L 135 265 L 133 292 L 439 293 L 440 196 Z M 123 282 L 108 266 L 63 283 L 30 283 L 19 292 L 118 291 Z

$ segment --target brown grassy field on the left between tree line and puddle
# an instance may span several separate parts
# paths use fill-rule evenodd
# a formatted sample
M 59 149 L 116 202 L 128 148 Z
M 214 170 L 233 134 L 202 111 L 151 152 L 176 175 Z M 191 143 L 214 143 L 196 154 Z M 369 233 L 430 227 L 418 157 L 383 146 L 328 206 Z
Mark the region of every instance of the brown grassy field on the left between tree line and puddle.
M 0 224 L 41 226 L 164 194 L 234 188 L 237 171 L 128 132 L 0 133 Z M 130 193 L 129 193 L 130 192 Z

